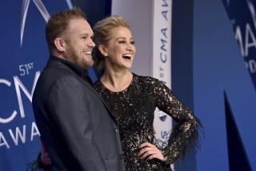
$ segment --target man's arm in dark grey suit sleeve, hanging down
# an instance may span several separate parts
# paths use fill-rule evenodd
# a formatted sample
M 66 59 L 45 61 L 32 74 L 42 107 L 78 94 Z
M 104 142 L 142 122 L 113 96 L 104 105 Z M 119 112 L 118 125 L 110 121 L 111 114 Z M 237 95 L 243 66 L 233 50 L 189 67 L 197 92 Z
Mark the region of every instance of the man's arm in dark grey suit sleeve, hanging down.
M 51 88 L 48 105 L 54 140 L 61 142 L 64 165 L 76 170 L 106 170 L 93 141 L 90 99 L 85 85 L 72 76 L 58 79 Z

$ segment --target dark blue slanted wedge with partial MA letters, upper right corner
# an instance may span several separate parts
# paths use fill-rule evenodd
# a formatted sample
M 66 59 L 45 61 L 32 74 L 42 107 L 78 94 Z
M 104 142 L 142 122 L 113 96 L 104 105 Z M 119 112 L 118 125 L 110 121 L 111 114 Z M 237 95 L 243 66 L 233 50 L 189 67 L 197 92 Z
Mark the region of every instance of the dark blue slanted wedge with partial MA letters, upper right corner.
M 222 0 L 234 38 L 256 89 L 256 1 Z

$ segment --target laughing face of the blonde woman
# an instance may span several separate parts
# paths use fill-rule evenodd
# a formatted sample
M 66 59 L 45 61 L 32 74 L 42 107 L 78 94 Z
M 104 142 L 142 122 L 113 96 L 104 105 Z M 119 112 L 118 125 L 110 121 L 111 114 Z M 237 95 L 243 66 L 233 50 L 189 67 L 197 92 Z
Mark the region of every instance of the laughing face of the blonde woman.
M 119 26 L 110 31 L 110 41 L 106 45 L 106 62 L 110 66 L 130 69 L 136 48 L 130 30 Z

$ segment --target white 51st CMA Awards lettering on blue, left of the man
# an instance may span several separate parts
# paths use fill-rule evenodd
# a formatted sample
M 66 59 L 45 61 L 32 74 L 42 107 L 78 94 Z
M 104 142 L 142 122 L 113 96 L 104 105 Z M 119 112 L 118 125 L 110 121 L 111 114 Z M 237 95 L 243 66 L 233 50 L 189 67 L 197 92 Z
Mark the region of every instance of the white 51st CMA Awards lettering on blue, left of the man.
M 27 79 L 31 79 L 28 77 L 32 76 L 32 72 L 29 73 L 32 69 L 33 63 L 20 65 L 20 77 L 25 79 L 24 76 L 27 76 L 26 81 Z M 40 71 L 35 72 L 30 91 L 27 87 L 31 87 L 31 85 L 23 84 L 21 81 L 22 78 L 18 78 L 18 76 L 14 76 L 13 80 L 0 78 L 0 90 L 4 90 L 4 93 L 7 93 L 7 96 L 9 96 L 6 97 L 6 104 L 2 104 L 2 106 L 5 107 L 1 108 L 0 148 L 10 149 L 14 145 L 25 144 L 26 141 L 34 141 L 35 137 L 40 137 L 38 127 L 34 122 L 31 105 L 32 95 L 39 75 Z M 15 91 L 15 93 L 13 93 L 13 91 Z M 0 97 L 5 98 L 2 95 Z M 18 100 L 18 109 L 15 109 L 15 104 L 17 104 L 17 102 L 15 102 L 16 99 Z M 12 108 L 11 106 L 14 109 L 10 109 Z

